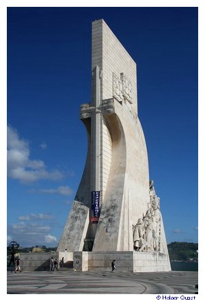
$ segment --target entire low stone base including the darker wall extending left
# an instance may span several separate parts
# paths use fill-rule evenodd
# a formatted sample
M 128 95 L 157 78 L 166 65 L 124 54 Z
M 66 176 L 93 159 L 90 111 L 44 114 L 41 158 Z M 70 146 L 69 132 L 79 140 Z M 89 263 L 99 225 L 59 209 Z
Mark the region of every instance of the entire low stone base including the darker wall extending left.
M 20 253 L 20 266 L 24 271 L 43 271 L 50 269 L 50 259 L 58 263 L 73 261 L 75 271 L 111 272 L 111 261 L 115 259 L 118 272 L 169 272 L 169 256 L 154 252 L 48 252 Z

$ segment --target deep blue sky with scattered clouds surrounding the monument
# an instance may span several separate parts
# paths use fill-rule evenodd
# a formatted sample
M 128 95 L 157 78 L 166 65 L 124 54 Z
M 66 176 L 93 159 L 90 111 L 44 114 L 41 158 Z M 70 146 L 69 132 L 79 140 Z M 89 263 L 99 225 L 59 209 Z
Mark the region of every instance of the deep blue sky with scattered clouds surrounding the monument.
M 197 8 L 8 9 L 8 241 L 57 246 L 87 155 L 91 23 L 137 63 L 167 242 L 197 242 Z

